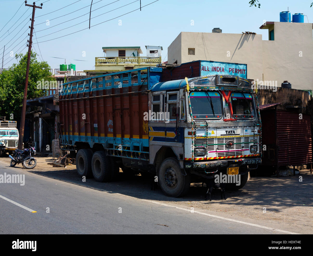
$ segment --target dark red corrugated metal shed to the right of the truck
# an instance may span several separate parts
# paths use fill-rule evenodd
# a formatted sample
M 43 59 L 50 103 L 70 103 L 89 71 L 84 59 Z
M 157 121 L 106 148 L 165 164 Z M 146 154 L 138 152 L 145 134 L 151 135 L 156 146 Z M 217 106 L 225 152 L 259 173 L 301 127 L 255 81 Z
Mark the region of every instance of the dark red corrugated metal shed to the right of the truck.
M 298 166 L 312 163 L 310 115 L 277 110 L 273 103 L 261 105 L 263 165 Z

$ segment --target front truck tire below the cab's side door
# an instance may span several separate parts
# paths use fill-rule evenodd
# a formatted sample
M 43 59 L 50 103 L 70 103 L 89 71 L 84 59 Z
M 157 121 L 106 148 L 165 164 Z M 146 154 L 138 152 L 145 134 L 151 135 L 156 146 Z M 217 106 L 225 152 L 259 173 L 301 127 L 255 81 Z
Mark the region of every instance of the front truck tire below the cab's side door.
M 159 185 L 168 196 L 180 197 L 185 195 L 190 187 L 190 174 L 183 175 L 175 158 L 166 158 L 158 173 Z

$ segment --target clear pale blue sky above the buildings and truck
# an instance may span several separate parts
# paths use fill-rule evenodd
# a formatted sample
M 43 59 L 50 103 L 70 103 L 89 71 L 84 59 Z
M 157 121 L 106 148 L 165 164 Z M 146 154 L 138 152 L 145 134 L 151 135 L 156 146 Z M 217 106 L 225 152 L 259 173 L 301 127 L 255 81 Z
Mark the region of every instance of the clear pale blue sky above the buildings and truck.
M 45 1 L 47 0 L 43 0 L 42 2 Z M 313 0 L 259 0 L 261 3 L 260 9 L 249 7 L 249 0 L 159 0 L 143 7 L 141 11 L 137 10 L 126 14 L 122 17 L 92 27 L 90 30 L 86 29 L 69 36 L 48 42 L 42 42 L 88 28 L 90 7 L 83 7 L 90 5 L 91 0 L 80 0 L 77 3 L 74 3 L 76 1 L 78 0 L 49 0 L 44 3 L 42 9 L 36 9 L 35 17 L 39 15 L 44 16 L 35 18 L 34 28 L 35 31 L 38 31 L 36 36 L 39 43 L 36 44 L 37 40 L 33 37 L 33 43 L 35 43 L 33 49 L 40 54 L 40 48 L 41 58 L 44 61 L 47 61 L 51 68 L 59 68 L 59 64 L 64 63 L 64 60 L 51 58 L 52 56 L 66 58 L 66 64 L 76 64 L 76 70 L 94 69 L 95 57 L 103 56 L 102 47 L 104 46 L 140 46 L 143 52 L 141 56 L 146 56 L 145 45 L 163 46 L 162 60 L 165 61 L 167 60 L 167 47 L 181 31 L 212 32 L 213 28 L 219 27 L 223 30 L 223 33 L 251 31 L 257 34 L 262 34 L 263 40 L 267 40 L 268 31 L 259 29 L 263 20 L 279 21 L 279 13 L 281 11 L 286 11 L 288 7 L 291 14 L 304 13 L 308 16 L 309 22 L 313 22 L 313 7 L 310 8 L 310 3 L 312 3 Z M 98 1 L 99 0 L 93 0 L 92 10 L 116 0 L 101 0 L 99 3 L 96 3 Z M 91 18 L 134 1 L 136 0 L 119 0 L 93 11 L 91 13 Z M 154 1 L 155 0 L 141 0 L 141 6 Z M 24 1 L 22 0 L 1 0 L 0 29 L 12 18 L 23 2 Z M 36 5 L 39 5 L 42 2 L 36 1 Z M 32 3 L 33 1 L 28 1 L 28 4 Z M 74 4 L 65 7 L 71 3 Z M 139 8 L 139 3 L 140 2 L 137 1 L 123 8 L 103 14 L 97 18 L 92 18 L 91 26 L 133 11 Z M 62 7 L 65 8 L 53 12 Z M 52 20 L 53 18 L 71 13 L 80 8 L 83 9 Z M 8 68 L 12 63 L 16 62 L 13 57 L 10 57 L 10 51 L 13 50 L 15 55 L 15 53 L 20 52 L 24 46 L 26 46 L 28 37 L 23 41 L 22 39 L 26 37 L 27 33 L 30 31 L 30 29 L 27 29 L 28 26 L 30 26 L 30 21 L 27 17 L 28 15 L 31 17 L 31 9 L 32 8 L 28 8 L 23 4 L 18 10 L 18 13 L 0 32 L 0 37 L 2 36 L 0 41 L 3 40 L 0 42 L 0 48 L 3 48 L 6 44 L 4 64 L 7 64 L 4 65 L 4 68 Z M 23 15 L 25 11 L 26 13 Z M 76 18 L 83 14 L 86 15 Z M 20 20 L 18 20 L 18 18 L 20 18 Z M 27 19 L 14 30 L 14 28 L 25 18 Z M 76 19 L 53 27 L 54 25 L 72 18 Z M 9 29 L 17 20 L 18 22 Z M 49 26 L 46 25 L 46 20 L 50 20 Z M 75 25 L 85 20 L 88 21 Z M 119 20 L 121 20 L 121 26 L 119 25 Z M 191 20 L 194 21 L 194 26 L 191 25 Z M 305 22 L 308 22 L 307 17 L 305 17 Z M 73 27 L 68 28 L 70 26 Z M 18 33 L 21 28 L 23 29 Z M 60 29 L 64 30 L 45 36 Z M 27 30 L 27 32 L 25 32 L 25 30 Z M 4 38 L 5 36 L 7 37 Z M 11 39 L 13 40 L 8 43 Z M 8 48 L 16 39 L 18 40 Z M 292 40 L 292 38 L 288 38 L 288 35 L 286 35 L 286 40 Z M 21 41 L 22 43 L 18 44 Z M 13 48 L 16 44 L 18 44 L 18 46 Z M 20 48 L 22 45 L 23 47 Z M 20 50 L 18 50 L 18 48 L 20 48 Z M 22 53 L 26 53 L 27 50 L 28 48 L 25 48 Z M 85 57 L 83 57 L 83 51 L 85 51 Z M 0 53 L 0 56 L 2 57 L 3 49 L 0 50 Z M 75 61 L 74 59 L 86 61 Z

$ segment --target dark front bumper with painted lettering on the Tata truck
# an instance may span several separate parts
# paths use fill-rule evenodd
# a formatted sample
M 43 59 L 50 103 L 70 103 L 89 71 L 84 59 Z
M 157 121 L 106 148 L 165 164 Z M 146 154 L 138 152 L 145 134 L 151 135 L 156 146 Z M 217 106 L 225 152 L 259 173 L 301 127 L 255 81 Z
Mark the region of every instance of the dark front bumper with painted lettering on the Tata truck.
M 186 162 L 185 168 L 186 170 L 195 170 L 195 171 L 205 171 L 205 173 L 216 173 L 219 168 L 227 168 L 227 167 L 241 167 L 241 166 L 249 166 L 249 167 L 257 167 L 262 163 L 261 158 L 238 158 L 238 159 L 221 159 L 215 161 L 206 161 L 206 162 Z

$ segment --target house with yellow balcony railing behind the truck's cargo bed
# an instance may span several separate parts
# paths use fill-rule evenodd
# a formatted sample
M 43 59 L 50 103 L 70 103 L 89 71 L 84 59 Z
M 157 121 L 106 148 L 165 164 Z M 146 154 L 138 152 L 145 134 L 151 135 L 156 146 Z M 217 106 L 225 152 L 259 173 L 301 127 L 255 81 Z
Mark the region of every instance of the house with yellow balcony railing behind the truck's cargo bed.
M 156 66 L 162 62 L 162 46 L 146 46 L 147 55 L 141 57 L 139 46 L 102 47 L 105 57 L 95 57 L 95 69 L 84 70 L 87 75 L 102 75 L 112 72 Z

